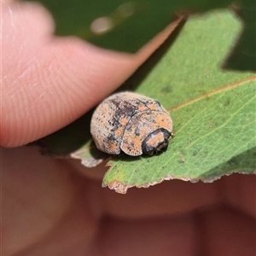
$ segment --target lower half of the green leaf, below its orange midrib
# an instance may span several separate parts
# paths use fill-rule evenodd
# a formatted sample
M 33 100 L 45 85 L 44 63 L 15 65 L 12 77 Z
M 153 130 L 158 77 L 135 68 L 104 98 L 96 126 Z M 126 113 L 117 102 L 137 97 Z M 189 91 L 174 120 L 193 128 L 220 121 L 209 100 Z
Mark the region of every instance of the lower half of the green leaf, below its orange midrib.
M 175 108 L 175 138 L 157 157 L 123 156 L 111 166 L 103 186 L 125 193 L 167 179 L 212 180 L 230 172 L 255 170 L 256 82 L 227 85 Z M 126 162 L 127 161 L 127 162 Z

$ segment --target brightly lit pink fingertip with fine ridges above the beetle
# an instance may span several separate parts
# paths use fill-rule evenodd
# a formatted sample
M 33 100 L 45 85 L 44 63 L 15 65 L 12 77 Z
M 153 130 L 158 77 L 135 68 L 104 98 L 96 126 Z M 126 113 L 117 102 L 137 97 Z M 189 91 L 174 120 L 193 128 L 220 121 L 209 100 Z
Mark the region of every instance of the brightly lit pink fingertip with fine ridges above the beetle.
M 128 79 L 173 29 L 130 55 L 53 37 L 53 20 L 37 4 L 12 4 L 3 13 L 3 147 L 31 143 L 78 119 Z

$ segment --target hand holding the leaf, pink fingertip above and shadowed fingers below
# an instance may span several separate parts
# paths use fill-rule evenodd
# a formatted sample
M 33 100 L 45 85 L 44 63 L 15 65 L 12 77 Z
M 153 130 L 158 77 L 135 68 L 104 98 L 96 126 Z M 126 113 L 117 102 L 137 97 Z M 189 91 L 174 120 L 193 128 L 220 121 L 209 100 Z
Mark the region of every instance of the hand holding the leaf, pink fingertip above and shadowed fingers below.
M 106 167 L 26 147 L 78 119 L 119 87 L 172 26 L 128 55 L 56 38 L 35 3 L 2 2 L 3 256 L 254 256 L 255 177 L 168 181 L 118 195 Z

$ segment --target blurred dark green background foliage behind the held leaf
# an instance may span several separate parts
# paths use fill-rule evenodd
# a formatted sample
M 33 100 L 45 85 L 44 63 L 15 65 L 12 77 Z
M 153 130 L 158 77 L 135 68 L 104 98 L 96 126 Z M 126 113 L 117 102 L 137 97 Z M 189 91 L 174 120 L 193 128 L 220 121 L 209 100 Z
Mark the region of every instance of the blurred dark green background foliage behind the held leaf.
M 32 1 L 32 0 L 23 0 Z M 177 14 L 229 7 L 231 0 L 38 0 L 55 20 L 59 36 L 77 36 L 97 46 L 135 52 L 163 30 Z M 224 67 L 255 70 L 256 12 L 253 0 L 236 2 L 245 23 L 241 41 Z M 253 46 L 253 48 L 252 48 Z M 230 52 L 230 49 L 227 49 Z M 234 61 L 235 60 L 235 61 Z

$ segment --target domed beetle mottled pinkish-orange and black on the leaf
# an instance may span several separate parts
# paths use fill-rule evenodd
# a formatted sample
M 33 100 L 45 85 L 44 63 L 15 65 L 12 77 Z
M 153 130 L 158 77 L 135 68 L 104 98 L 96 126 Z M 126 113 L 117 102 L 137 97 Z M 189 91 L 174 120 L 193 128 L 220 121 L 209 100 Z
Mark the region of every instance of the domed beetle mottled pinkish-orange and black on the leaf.
M 119 92 L 96 108 L 90 133 L 96 148 L 108 154 L 161 154 L 173 137 L 172 119 L 160 102 L 132 92 Z

